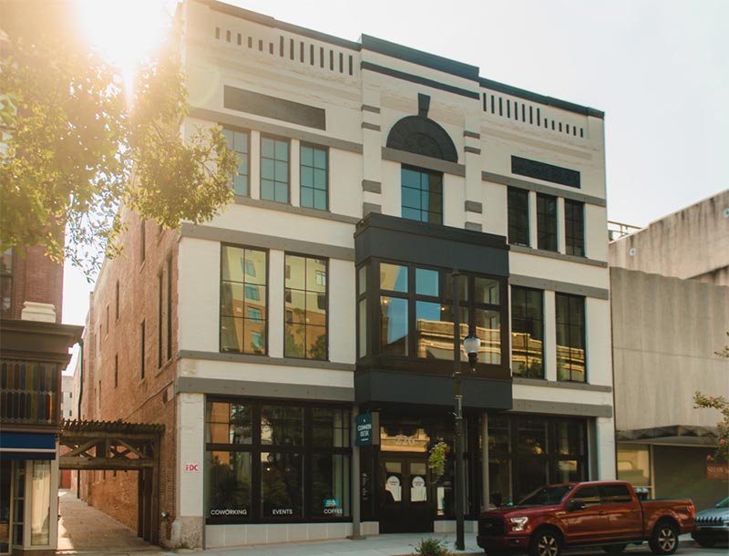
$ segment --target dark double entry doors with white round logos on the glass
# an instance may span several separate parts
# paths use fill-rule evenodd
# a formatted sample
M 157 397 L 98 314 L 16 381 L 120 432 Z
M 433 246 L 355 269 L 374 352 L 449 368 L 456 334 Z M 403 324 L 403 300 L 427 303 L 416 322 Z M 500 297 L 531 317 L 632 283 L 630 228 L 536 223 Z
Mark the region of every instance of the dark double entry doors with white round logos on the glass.
M 427 454 L 381 455 L 381 533 L 433 531 L 436 507 L 427 471 Z

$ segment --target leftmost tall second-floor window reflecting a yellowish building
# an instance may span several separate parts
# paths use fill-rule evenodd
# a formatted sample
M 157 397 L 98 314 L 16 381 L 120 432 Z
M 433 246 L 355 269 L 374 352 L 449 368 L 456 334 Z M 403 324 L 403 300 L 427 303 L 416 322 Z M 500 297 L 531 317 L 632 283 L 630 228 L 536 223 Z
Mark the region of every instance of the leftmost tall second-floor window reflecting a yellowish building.
M 266 353 L 266 252 L 221 247 L 221 351 Z

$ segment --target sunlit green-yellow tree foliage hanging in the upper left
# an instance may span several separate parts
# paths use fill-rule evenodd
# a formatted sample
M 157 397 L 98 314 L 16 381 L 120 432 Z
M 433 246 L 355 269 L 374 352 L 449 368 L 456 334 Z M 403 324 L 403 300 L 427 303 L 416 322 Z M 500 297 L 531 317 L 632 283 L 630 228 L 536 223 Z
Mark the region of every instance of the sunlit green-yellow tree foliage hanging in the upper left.
M 118 252 L 121 206 L 174 229 L 230 201 L 236 159 L 221 130 L 182 136 L 174 26 L 125 92 L 80 38 L 70 2 L 0 1 L 0 250 L 39 244 L 89 275 Z

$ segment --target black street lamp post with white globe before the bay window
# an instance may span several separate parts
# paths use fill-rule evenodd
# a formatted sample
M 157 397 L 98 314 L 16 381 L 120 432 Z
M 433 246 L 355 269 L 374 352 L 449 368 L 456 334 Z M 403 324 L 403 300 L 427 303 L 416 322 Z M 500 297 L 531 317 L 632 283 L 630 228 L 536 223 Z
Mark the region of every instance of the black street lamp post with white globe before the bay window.
M 451 273 L 453 282 L 453 379 L 456 386 L 456 550 L 466 550 L 464 541 L 464 507 L 466 497 L 466 473 L 463 462 L 463 373 L 461 372 L 461 332 L 460 311 L 458 303 L 458 285 L 460 275 L 457 270 Z M 463 348 L 468 354 L 468 366 L 471 372 L 476 371 L 478 348 L 481 341 L 474 327 L 468 327 L 468 335 L 463 341 Z

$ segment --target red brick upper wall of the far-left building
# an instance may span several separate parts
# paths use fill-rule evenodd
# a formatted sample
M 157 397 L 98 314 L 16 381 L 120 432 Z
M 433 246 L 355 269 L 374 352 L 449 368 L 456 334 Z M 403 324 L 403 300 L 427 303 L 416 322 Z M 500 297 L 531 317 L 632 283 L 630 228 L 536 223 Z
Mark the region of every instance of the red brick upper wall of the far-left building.
M 63 264 L 48 259 L 42 247 L 26 248 L 25 256 L 13 252 L 13 318 L 20 318 L 26 301 L 54 304 L 56 323 L 61 322 Z

